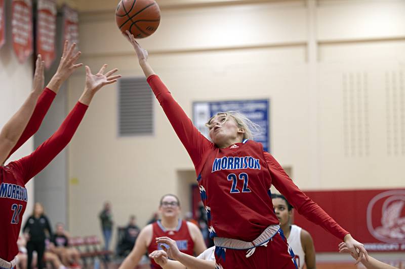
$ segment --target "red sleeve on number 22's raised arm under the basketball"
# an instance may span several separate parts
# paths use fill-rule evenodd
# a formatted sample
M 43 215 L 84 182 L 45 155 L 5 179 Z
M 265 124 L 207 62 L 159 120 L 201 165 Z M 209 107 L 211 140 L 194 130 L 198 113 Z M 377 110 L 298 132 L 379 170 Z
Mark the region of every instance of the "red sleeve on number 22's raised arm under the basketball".
M 147 81 L 177 136 L 190 155 L 194 167 L 197 168 L 201 156 L 208 148 L 212 147 L 213 144 L 195 128 L 158 76 L 151 75 L 148 77 Z

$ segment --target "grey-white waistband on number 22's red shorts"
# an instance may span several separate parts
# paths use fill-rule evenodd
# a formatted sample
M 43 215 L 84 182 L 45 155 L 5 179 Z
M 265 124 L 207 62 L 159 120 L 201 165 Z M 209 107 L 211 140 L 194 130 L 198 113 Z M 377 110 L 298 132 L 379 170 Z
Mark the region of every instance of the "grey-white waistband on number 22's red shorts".
M 238 239 L 214 237 L 214 244 L 217 247 L 230 248 L 230 249 L 251 249 L 260 246 L 269 241 L 280 229 L 279 225 L 270 225 L 263 231 L 258 238 L 252 242 L 245 242 Z

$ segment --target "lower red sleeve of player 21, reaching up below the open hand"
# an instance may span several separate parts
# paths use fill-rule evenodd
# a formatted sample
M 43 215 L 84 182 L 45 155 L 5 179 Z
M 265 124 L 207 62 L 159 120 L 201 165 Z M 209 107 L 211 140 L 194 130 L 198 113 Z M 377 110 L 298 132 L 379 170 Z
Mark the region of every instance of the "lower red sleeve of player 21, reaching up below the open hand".
M 59 129 L 48 140 L 30 155 L 14 162 L 22 170 L 25 183 L 41 172 L 65 148 L 85 116 L 87 108 L 87 105 L 77 102 Z

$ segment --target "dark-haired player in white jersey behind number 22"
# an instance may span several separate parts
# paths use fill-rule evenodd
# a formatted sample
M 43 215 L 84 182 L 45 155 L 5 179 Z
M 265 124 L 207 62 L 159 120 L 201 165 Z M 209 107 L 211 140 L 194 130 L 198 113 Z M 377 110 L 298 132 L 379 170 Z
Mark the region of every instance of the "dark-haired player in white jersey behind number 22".
M 297 225 L 291 225 L 293 206 L 280 194 L 271 194 L 274 212 L 280 221 L 281 230 L 287 238 L 289 246 L 293 249 L 298 269 L 315 268 L 315 247 L 311 235 Z

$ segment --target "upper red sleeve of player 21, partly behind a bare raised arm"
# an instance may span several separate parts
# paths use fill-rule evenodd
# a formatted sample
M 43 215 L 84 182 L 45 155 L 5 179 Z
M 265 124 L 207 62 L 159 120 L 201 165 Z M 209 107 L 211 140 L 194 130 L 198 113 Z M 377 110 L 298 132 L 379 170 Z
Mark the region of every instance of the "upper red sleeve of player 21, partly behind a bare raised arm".
M 13 154 L 22 144 L 24 144 L 33 134 L 35 134 L 36 131 L 38 131 L 39 126 L 41 126 L 41 123 L 44 120 L 52 101 L 55 99 L 55 96 L 55 92 L 45 88 L 36 102 L 34 112 L 32 113 L 24 132 L 21 134 L 17 144 L 10 151 L 8 157 L 10 157 L 11 154 Z

